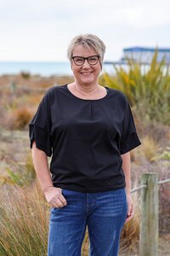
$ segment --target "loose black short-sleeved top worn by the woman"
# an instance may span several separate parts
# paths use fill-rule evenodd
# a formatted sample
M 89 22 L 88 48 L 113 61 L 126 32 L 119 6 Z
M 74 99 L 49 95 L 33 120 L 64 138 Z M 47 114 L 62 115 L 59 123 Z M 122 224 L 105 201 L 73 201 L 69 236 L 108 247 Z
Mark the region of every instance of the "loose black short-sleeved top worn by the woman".
M 31 120 L 31 146 L 52 155 L 55 187 L 101 192 L 125 187 L 122 157 L 140 145 L 122 92 L 107 88 L 98 100 L 74 96 L 67 84 L 50 88 Z

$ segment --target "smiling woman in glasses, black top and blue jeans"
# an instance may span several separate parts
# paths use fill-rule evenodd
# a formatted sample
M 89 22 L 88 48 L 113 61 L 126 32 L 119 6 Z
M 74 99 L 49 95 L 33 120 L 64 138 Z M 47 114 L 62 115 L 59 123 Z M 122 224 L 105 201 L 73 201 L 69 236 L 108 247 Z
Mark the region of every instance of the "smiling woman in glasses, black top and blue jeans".
M 33 162 L 51 206 L 49 256 L 80 256 L 87 226 L 90 255 L 116 256 L 133 218 L 129 151 L 140 142 L 126 97 L 98 84 L 104 54 L 98 37 L 73 38 L 74 82 L 49 89 L 31 120 Z

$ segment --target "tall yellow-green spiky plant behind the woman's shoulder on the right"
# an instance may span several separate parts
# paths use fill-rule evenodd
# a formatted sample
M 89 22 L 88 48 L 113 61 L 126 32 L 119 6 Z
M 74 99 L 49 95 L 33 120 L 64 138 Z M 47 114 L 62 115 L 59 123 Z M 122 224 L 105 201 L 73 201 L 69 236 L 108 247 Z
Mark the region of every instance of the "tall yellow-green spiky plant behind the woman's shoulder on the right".
M 131 60 L 127 60 L 127 67 L 126 71 L 114 66 L 116 75 L 104 73 L 101 83 L 121 90 L 141 119 L 170 125 L 170 74 L 164 59 L 158 63 L 156 51 L 150 67 Z

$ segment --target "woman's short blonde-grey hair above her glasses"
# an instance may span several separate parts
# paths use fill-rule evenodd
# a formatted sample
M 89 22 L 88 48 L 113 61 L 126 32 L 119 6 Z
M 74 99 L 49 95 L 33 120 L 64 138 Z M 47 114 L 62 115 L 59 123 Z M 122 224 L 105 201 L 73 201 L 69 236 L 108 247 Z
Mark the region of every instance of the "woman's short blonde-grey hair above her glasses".
M 81 34 L 75 38 L 72 38 L 71 43 L 67 49 L 67 57 L 71 61 L 73 50 L 76 46 L 82 45 L 87 49 L 94 49 L 95 52 L 100 56 L 100 61 L 103 62 L 105 55 L 105 44 L 97 36 L 93 34 Z

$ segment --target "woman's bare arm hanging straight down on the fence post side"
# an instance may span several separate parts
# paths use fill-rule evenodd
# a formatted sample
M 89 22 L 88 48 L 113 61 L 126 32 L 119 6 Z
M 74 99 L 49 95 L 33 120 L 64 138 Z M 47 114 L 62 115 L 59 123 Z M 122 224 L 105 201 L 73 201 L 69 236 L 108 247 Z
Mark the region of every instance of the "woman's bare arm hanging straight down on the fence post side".
M 125 175 L 126 182 L 126 193 L 127 193 L 127 220 L 126 222 L 133 218 L 133 200 L 130 194 L 131 191 L 131 161 L 130 161 L 130 152 L 122 154 L 122 170 Z

